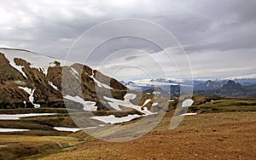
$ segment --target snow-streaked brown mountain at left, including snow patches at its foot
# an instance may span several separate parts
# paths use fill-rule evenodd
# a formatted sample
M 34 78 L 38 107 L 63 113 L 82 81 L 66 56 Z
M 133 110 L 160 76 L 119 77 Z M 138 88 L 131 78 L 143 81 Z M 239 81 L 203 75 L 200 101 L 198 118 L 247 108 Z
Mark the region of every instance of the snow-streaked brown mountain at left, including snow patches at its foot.
M 85 114 L 82 118 L 87 119 L 79 127 L 89 121 L 98 127 L 160 110 L 153 95 L 138 95 L 89 66 L 26 50 L 0 49 L 0 109 L 67 107 Z

